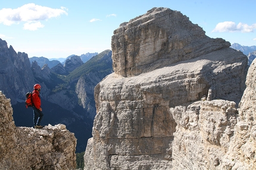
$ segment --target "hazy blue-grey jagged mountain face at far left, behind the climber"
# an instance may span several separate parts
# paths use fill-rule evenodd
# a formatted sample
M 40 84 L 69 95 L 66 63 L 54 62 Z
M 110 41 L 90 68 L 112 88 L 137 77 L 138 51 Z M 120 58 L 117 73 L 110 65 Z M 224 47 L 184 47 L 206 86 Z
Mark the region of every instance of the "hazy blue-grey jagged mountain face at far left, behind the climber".
M 11 99 L 11 104 L 24 102 L 24 94 L 35 84 L 29 57 L 26 53 L 16 53 L 12 46 L 0 39 L 0 89 Z M 18 76 L 14 76 L 18 75 Z

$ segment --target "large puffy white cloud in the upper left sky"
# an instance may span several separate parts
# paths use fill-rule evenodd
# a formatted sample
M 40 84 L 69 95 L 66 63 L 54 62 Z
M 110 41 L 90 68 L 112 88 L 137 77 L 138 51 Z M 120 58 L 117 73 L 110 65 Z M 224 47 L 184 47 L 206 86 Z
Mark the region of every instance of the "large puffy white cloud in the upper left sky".
M 4 25 L 12 25 L 25 22 L 24 29 L 37 30 L 38 28 L 43 27 L 40 21 L 47 21 L 50 18 L 56 18 L 62 14 L 67 15 L 66 11 L 67 8 L 65 7 L 61 7 L 61 9 L 53 9 L 33 3 L 23 5 L 16 9 L 3 8 L 0 10 L 0 23 Z M 31 26 L 31 28 L 29 28 L 29 26 Z

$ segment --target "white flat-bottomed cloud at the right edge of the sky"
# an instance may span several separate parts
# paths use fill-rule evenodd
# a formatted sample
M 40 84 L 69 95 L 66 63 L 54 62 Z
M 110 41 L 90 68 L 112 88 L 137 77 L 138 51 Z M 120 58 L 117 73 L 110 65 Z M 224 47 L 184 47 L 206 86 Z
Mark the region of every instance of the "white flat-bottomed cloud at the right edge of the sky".
M 236 25 L 236 23 L 232 21 L 225 21 L 223 23 L 218 23 L 216 27 L 214 28 L 213 32 L 235 32 L 235 31 L 241 31 L 242 33 L 251 33 L 256 29 L 256 24 L 248 25 L 239 23 Z

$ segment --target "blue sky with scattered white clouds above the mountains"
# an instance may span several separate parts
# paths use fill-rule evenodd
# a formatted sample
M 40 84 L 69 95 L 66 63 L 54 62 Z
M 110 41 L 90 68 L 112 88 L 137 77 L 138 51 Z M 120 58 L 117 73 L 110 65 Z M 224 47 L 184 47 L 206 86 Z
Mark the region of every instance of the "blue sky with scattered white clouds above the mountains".
M 101 53 L 121 23 L 154 7 L 182 12 L 211 38 L 256 46 L 255 0 L 1 1 L 0 38 L 29 57 Z

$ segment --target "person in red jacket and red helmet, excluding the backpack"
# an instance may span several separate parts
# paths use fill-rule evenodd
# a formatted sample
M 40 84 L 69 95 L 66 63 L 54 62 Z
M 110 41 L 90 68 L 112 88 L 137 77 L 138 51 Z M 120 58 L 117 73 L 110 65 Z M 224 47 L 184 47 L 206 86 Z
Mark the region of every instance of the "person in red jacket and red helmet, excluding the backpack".
M 39 84 L 34 85 L 34 91 L 32 94 L 33 101 L 33 121 L 35 129 L 41 129 L 43 126 L 40 126 L 40 122 L 43 118 L 43 112 L 41 108 L 41 100 L 40 100 L 40 90 L 41 86 Z

